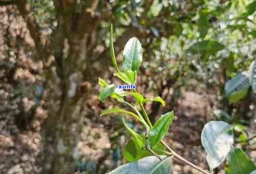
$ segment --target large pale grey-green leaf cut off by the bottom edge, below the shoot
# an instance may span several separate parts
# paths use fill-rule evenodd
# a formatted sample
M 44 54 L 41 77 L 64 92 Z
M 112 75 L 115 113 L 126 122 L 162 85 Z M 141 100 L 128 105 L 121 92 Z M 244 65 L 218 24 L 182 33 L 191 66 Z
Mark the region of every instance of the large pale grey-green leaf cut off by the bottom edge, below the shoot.
M 170 174 L 171 158 L 161 156 L 162 161 L 155 156 L 143 158 L 139 161 L 122 165 L 108 174 Z

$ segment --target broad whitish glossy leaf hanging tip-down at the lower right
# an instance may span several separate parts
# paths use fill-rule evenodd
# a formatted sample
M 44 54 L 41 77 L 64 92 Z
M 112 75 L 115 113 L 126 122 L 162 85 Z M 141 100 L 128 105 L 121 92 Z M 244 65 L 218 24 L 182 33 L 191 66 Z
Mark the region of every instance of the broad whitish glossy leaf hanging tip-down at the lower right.
M 231 149 L 234 141 L 232 126 L 224 121 L 210 121 L 203 128 L 201 141 L 212 171 L 221 165 Z

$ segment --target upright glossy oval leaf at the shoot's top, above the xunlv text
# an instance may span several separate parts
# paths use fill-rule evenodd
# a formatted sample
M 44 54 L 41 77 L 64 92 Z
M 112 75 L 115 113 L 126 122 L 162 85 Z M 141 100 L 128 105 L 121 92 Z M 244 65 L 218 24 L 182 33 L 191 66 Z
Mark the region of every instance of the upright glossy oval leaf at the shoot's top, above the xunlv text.
M 142 46 L 136 37 L 132 37 L 125 45 L 123 55 L 124 71 L 137 71 L 142 62 Z

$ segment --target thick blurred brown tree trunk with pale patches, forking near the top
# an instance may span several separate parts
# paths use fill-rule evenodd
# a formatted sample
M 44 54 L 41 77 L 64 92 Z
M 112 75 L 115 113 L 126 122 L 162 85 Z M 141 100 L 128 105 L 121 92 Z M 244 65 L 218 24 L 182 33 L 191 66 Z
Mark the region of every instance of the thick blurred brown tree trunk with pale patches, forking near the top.
M 82 126 L 85 100 L 90 94 L 88 54 L 95 46 L 95 30 L 99 19 L 94 10 L 99 1 L 54 1 L 57 28 L 48 41 L 42 40 L 26 0 L 17 7 L 27 22 L 36 45 L 37 58 L 45 63 L 48 118 L 43 125 L 42 173 L 74 173 L 76 144 Z M 53 58 L 54 57 L 54 58 Z M 47 65 L 49 59 L 52 63 Z M 47 66 L 46 66 L 47 65 Z M 82 114 L 83 113 L 83 114 Z

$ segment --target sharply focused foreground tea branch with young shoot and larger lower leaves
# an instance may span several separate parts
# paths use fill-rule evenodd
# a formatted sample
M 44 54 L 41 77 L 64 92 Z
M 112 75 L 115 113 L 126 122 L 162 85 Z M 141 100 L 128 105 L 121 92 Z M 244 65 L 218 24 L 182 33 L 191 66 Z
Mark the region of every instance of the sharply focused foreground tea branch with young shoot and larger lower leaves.
M 142 46 L 136 37 L 132 37 L 127 42 L 124 48 L 123 55 L 123 72 L 119 69 L 116 63 L 113 46 L 112 25 L 110 29 L 110 53 L 111 59 L 116 73 L 114 76 L 120 78 L 126 84 L 136 84 L 137 70 L 142 62 Z M 253 72 L 255 72 L 253 64 Z M 252 69 L 252 68 L 251 68 Z M 255 78 L 252 76 L 251 83 L 254 85 Z M 242 80 L 243 81 L 243 80 Z M 130 111 L 122 108 L 110 108 L 102 112 L 102 115 L 122 113 L 131 116 L 134 120 L 139 121 L 145 127 L 145 135 L 139 135 L 132 130 L 123 118 L 123 124 L 127 132 L 131 135 L 131 140 L 126 144 L 124 150 L 125 159 L 130 162 L 110 172 L 115 173 L 171 173 L 171 159 L 178 158 L 182 162 L 192 166 L 202 173 L 213 173 L 214 169 L 219 167 L 225 160 L 226 173 L 232 174 L 253 174 L 256 171 L 255 164 L 245 155 L 243 150 L 234 147 L 234 126 L 229 125 L 224 121 L 208 122 L 202 132 L 202 145 L 207 153 L 206 160 L 209 165 L 209 171 L 200 168 L 197 165 L 187 161 L 169 147 L 164 138 L 168 133 L 169 127 L 173 121 L 173 112 L 167 112 L 162 115 L 153 125 L 147 115 L 144 104 L 148 101 L 160 102 L 165 105 L 165 101 L 156 97 L 153 99 L 145 98 L 135 89 L 129 92 L 117 88 L 115 84 L 107 84 L 103 79 L 99 78 L 99 83 L 103 90 L 100 92 L 99 100 L 105 101 L 108 97 L 116 99 L 129 107 Z M 229 85 L 229 84 L 227 84 Z M 230 90 L 233 93 L 234 90 Z M 241 89 L 239 87 L 239 89 Z M 136 100 L 135 104 L 131 104 L 125 100 L 126 96 L 133 96 Z M 140 110 L 138 109 L 140 107 Z M 140 112 L 141 111 L 141 112 Z

